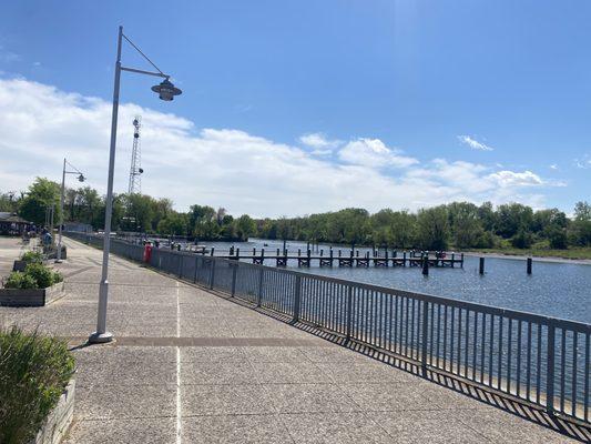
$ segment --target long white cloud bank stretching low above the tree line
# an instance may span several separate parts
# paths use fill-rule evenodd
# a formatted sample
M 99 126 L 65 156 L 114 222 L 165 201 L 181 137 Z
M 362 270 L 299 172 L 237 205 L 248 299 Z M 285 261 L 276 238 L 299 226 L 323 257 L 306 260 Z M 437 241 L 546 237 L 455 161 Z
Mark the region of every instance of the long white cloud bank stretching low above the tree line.
M 128 188 L 135 114 L 142 115 L 143 192 L 170 198 L 183 211 L 201 203 L 233 214 L 279 216 L 346 206 L 415 210 L 452 200 L 542 206 L 540 190 L 551 185 L 530 171 L 445 159 L 419 163 L 378 139 L 350 141 L 329 161 L 236 129 L 195 129 L 172 113 L 123 103 L 115 163 L 120 193 Z M 23 190 L 37 175 L 59 181 L 63 157 L 89 185 L 105 191 L 110 102 L 0 79 L 0 115 L 1 191 Z M 396 176 L 384 168 L 395 168 Z

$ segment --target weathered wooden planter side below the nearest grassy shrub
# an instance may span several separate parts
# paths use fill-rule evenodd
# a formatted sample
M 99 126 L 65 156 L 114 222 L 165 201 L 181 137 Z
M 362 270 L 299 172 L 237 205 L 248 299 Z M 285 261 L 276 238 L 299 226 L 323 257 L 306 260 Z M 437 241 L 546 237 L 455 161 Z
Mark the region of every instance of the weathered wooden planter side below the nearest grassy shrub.
M 37 436 L 28 444 L 59 444 L 63 440 L 74 415 L 74 394 L 75 379 L 72 377 L 58 405 L 50 412 Z

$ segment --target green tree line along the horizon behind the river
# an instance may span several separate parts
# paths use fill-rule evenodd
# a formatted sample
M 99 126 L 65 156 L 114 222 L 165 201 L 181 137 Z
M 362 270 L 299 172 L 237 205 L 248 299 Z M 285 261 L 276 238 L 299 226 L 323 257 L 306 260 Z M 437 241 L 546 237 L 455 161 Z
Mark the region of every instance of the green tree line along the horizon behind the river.
M 41 225 L 45 208 L 51 204 L 59 220 L 59 184 L 38 178 L 19 195 L 0 193 L 0 211 L 17 212 Z M 67 189 L 64 202 L 64 221 L 104 229 L 104 196 L 96 190 Z M 116 231 L 197 240 L 244 241 L 257 236 L 424 250 L 591 246 L 591 204 L 584 201 L 577 203 L 573 218 L 558 209 L 533 211 L 520 203 L 493 206 L 490 202 L 452 202 L 417 212 L 384 209 L 370 214 L 351 208 L 300 218 L 255 220 L 247 214 L 234 218 L 223 208 L 200 204 L 179 212 L 170 199 L 118 194 L 112 221 Z

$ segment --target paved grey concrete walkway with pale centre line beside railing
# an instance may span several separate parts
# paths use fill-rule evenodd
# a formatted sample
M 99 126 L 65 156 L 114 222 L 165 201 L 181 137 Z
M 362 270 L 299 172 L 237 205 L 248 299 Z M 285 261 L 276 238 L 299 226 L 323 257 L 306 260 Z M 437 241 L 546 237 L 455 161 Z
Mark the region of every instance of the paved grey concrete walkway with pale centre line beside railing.
M 0 324 L 82 344 L 101 252 L 67 240 L 68 295 Z M 112 259 L 109 329 L 80 346 L 68 443 L 565 443 L 549 427 Z

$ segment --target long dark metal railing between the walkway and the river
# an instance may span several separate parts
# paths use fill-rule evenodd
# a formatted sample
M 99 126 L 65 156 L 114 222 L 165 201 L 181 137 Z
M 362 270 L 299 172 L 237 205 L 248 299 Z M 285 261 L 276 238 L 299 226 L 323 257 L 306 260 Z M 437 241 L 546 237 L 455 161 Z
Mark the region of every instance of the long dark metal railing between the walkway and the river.
M 111 251 L 142 261 L 144 248 L 113 239 Z M 163 249 L 150 265 L 589 423 L 591 324 Z

